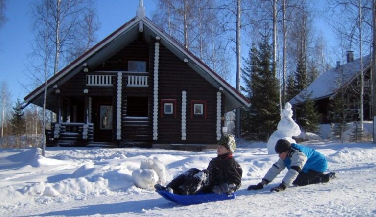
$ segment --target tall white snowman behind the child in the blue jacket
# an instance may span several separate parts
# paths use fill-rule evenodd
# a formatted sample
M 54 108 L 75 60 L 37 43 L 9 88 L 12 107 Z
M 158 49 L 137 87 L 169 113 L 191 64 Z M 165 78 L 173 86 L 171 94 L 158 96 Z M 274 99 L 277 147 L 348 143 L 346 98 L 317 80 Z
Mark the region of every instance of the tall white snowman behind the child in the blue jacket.
M 284 109 L 281 111 L 281 120 L 278 122 L 277 130 L 269 137 L 266 147 L 269 154 L 275 154 L 274 146 L 279 139 L 286 139 L 290 143 L 296 143 L 293 136 L 300 135 L 300 128 L 292 119 L 291 104 L 286 103 Z

